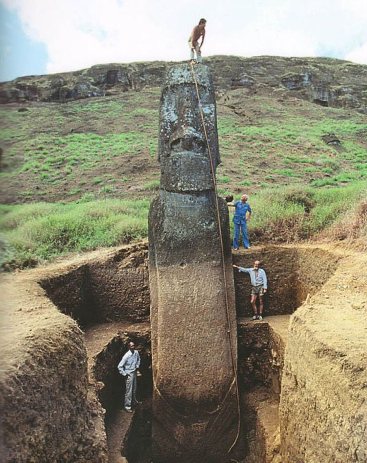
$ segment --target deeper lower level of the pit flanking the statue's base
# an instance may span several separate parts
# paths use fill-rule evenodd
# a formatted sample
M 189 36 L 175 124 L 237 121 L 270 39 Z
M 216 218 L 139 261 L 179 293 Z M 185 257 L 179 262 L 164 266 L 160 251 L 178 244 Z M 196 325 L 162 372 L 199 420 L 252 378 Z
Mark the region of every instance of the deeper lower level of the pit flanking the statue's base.
M 283 366 L 288 315 L 264 322 L 238 318 L 238 372 L 241 390 L 241 436 L 233 456 L 261 462 L 278 451 L 277 406 Z M 109 341 L 106 341 L 110 338 Z M 138 398 L 142 404 L 132 415 L 123 411 L 123 378 L 116 365 L 133 339 L 140 352 Z M 109 462 L 151 462 L 151 346 L 148 323 L 99 324 L 86 329 L 87 352 L 92 359 L 90 376 L 106 410 L 105 426 Z M 102 346 L 102 344 L 106 343 Z M 98 353 L 95 352 L 99 350 Z M 93 355 L 94 354 L 94 355 Z M 244 460 L 246 456 L 247 460 Z

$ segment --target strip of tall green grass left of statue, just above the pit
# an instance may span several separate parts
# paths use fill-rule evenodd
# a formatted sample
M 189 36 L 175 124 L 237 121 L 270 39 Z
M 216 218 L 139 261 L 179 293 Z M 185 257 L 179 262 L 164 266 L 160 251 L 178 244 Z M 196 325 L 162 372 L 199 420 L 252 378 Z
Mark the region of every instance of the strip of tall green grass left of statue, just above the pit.
M 88 199 L 0 206 L 2 263 L 23 267 L 147 236 L 149 201 Z

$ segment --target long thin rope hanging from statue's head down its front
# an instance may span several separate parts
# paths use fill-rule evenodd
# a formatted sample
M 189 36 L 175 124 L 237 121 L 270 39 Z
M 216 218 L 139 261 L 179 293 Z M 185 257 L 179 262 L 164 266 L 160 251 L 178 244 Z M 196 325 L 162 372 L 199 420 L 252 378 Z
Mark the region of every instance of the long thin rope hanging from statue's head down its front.
M 236 383 L 236 394 L 237 394 L 238 424 L 237 424 L 236 438 L 234 439 L 232 445 L 229 447 L 229 450 L 228 450 L 228 453 L 230 453 L 230 451 L 235 446 L 235 444 L 236 444 L 236 442 L 238 440 L 238 437 L 240 435 L 240 426 L 241 426 L 241 422 L 240 422 L 240 393 L 239 393 L 239 389 L 238 389 L 237 368 L 236 368 L 236 363 L 234 361 L 233 345 L 232 345 L 231 325 L 230 325 L 230 317 L 229 317 L 229 302 L 228 302 L 226 265 L 225 265 L 225 259 L 224 259 L 223 235 L 222 235 L 221 221 L 220 221 L 220 214 L 219 214 L 217 182 L 215 180 L 215 172 L 214 172 L 214 166 L 213 166 L 213 159 L 211 157 L 209 140 L 208 140 L 207 134 L 206 134 L 206 126 L 205 126 L 205 122 L 204 122 L 203 109 L 202 109 L 202 105 L 201 105 L 201 101 L 200 101 L 198 83 L 196 81 L 194 66 L 193 66 L 192 62 L 190 63 L 190 65 L 191 65 L 192 75 L 194 76 L 196 94 L 198 96 L 198 101 L 199 101 L 200 116 L 201 116 L 201 120 L 202 120 L 202 123 L 203 123 L 203 130 L 204 130 L 204 135 L 205 135 L 205 139 L 206 139 L 206 145 L 207 145 L 207 149 L 208 149 L 208 153 L 209 153 L 211 176 L 213 178 L 214 193 L 215 193 L 215 205 L 216 205 L 217 220 L 218 220 L 218 230 L 219 230 L 219 237 L 220 237 L 221 251 L 222 251 L 222 268 L 223 268 L 223 279 L 224 279 L 224 288 L 225 288 L 225 295 L 226 295 L 226 313 L 227 313 L 228 337 L 229 337 L 229 345 L 230 345 L 230 356 L 231 356 L 231 359 L 232 359 L 232 368 L 233 368 L 233 373 L 234 373 L 234 377 L 235 377 L 235 380 L 236 380 L 235 383 Z

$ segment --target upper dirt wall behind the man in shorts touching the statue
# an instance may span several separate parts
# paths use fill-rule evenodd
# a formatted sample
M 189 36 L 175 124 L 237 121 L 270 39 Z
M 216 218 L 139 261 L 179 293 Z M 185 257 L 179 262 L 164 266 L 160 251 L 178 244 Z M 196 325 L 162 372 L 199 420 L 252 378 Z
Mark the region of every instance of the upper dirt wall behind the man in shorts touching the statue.
M 291 314 L 314 294 L 335 271 L 340 257 L 320 248 L 262 246 L 232 255 L 233 264 L 252 267 L 261 262 L 268 278 L 268 293 L 264 296 L 266 315 Z M 234 272 L 237 316 L 252 315 L 251 283 L 246 273 Z

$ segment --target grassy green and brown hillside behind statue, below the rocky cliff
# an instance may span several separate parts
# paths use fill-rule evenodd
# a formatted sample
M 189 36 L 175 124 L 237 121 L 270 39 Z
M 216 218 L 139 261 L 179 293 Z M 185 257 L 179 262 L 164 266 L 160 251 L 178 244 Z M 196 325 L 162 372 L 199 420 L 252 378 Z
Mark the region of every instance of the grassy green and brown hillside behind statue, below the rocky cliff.
M 261 88 L 250 96 L 243 88 L 218 92 L 218 189 L 250 195 L 252 240 L 305 239 L 367 197 L 367 115 Z M 159 185 L 159 98 L 150 87 L 0 106 L 4 262 L 146 236 Z M 57 204 L 10 206 L 45 201 Z M 297 232 L 279 233 L 294 231 L 295 220 Z

